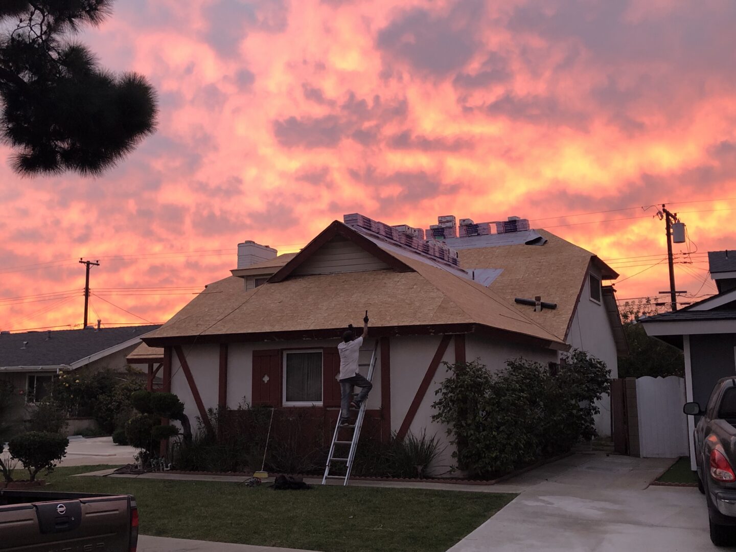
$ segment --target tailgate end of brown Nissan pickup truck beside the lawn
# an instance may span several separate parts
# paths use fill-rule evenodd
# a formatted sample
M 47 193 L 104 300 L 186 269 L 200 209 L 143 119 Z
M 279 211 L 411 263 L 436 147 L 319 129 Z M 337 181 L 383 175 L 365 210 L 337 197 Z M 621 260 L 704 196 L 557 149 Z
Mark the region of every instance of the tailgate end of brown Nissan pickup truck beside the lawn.
M 0 490 L 0 551 L 135 552 L 130 495 Z

